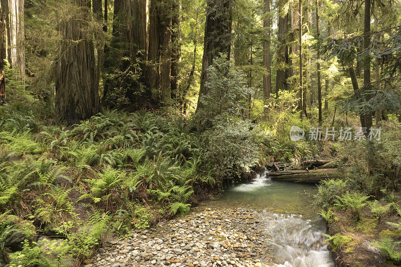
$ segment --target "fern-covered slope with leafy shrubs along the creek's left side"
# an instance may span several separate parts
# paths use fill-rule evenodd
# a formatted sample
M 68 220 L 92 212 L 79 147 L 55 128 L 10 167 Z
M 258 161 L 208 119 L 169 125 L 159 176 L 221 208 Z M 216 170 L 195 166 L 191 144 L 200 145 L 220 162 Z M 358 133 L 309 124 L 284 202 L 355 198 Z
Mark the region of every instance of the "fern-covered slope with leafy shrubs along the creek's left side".
M 238 83 L 211 85 L 233 96 L 232 103 L 206 100 L 221 110 L 214 117 L 105 110 L 66 127 L 49 120 L 52 105 L 19 83 L 9 86 L 11 93 L 23 91 L 0 107 L 2 260 L 15 266 L 82 261 L 108 234 L 129 236 L 183 214 L 195 195 L 250 177 L 267 162 L 299 162 L 318 153 L 311 142 L 288 139 L 283 125 L 301 122 L 278 107 L 294 101 L 291 95 L 271 103 L 274 123 L 251 122 L 243 118 L 246 103 L 238 101 L 247 93 L 242 73 L 226 61 L 217 64 Z

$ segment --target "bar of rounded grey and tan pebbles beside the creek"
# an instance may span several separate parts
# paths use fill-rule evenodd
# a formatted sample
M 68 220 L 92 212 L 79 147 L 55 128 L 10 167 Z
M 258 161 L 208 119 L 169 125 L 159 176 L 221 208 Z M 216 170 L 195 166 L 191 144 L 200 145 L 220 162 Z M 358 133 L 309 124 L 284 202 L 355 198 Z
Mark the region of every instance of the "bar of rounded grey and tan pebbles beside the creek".
M 159 223 L 156 229 L 110 241 L 85 267 L 262 267 L 270 260 L 262 229 L 258 211 L 201 206 L 198 212 Z

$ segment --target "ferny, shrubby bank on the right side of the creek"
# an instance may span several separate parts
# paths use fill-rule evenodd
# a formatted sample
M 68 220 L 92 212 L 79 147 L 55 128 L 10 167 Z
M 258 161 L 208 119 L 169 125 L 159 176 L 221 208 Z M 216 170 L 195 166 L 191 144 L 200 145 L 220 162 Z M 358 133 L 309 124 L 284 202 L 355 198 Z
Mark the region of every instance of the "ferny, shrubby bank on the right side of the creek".
M 345 178 L 323 181 L 316 195 L 331 248 L 340 260 L 355 265 L 384 264 L 380 257 L 362 256 L 361 247 L 369 245 L 381 251 L 387 264 L 401 263 L 400 129 L 394 122 L 382 127 L 380 140 L 338 149 L 338 159 L 347 166 Z

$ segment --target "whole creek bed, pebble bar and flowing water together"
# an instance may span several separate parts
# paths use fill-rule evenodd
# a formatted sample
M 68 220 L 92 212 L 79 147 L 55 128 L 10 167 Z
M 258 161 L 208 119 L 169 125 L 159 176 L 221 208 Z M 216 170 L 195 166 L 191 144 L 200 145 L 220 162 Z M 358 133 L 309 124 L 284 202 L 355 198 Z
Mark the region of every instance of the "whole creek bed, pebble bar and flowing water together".
M 108 242 L 86 267 L 334 266 L 315 191 L 258 175 L 184 217 Z

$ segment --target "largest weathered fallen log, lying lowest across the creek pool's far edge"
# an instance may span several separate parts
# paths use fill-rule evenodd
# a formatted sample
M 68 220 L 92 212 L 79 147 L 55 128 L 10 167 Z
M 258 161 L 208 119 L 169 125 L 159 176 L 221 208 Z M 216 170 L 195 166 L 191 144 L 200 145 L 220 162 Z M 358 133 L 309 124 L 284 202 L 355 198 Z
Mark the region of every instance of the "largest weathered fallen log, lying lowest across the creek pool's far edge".
M 268 176 L 271 177 L 272 180 L 318 184 L 321 180 L 343 178 L 344 171 L 341 168 L 317 169 L 317 170 L 291 170 L 291 171 L 269 172 Z

